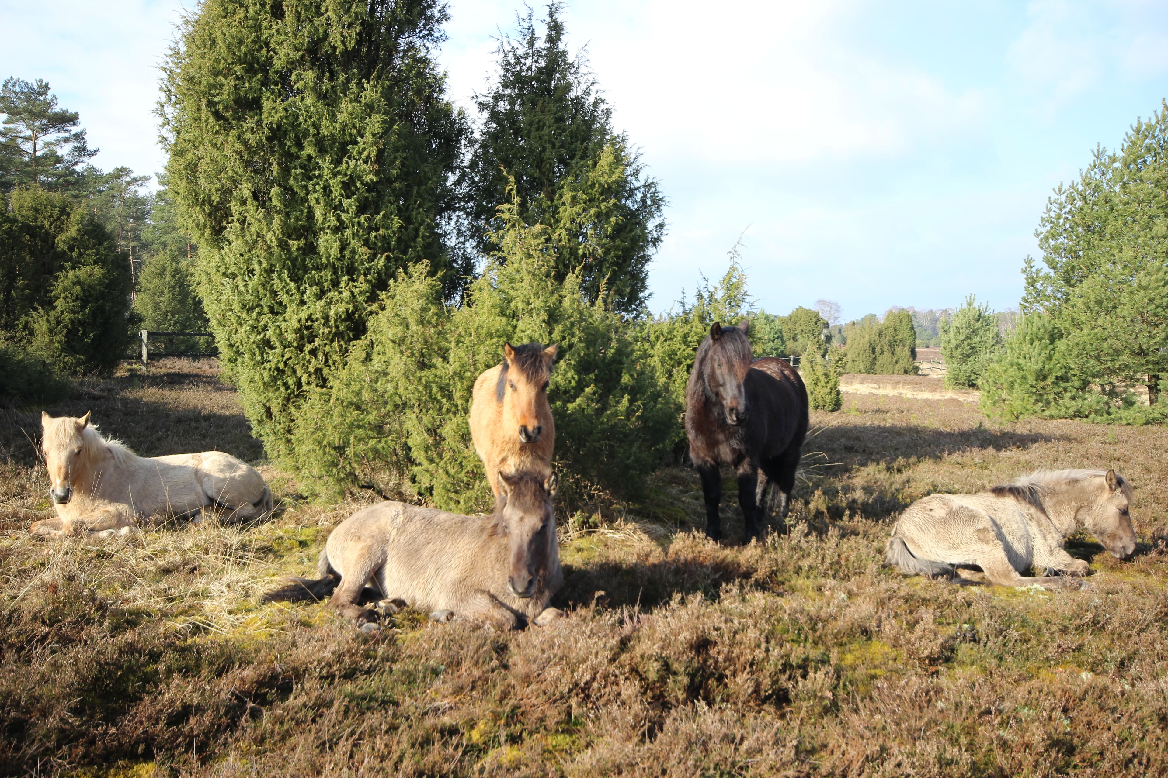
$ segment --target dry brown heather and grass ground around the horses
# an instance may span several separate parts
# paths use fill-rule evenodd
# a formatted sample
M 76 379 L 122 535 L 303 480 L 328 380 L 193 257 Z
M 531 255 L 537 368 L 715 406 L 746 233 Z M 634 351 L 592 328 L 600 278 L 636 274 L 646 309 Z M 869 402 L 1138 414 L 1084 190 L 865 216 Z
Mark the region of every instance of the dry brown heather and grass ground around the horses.
M 255 461 L 213 367 L 161 364 L 49 408 L 92 408 L 142 454 Z M 321 605 L 259 605 L 355 503 L 242 528 L 44 542 L 40 408 L 0 414 L 0 771 L 82 776 L 1159 775 L 1168 769 L 1168 524 L 1160 427 L 1000 425 L 958 400 L 846 395 L 815 436 L 788 534 L 718 547 L 696 477 L 577 514 L 570 617 L 498 635 L 403 614 L 366 636 Z M 1093 542 L 1083 590 L 957 587 L 881 567 L 934 490 L 1114 467 L 1145 538 Z M 728 483 L 728 486 L 730 484 Z M 730 537 L 741 537 L 737 506 Z M 735 533 L 738 533 L 737 535 Z

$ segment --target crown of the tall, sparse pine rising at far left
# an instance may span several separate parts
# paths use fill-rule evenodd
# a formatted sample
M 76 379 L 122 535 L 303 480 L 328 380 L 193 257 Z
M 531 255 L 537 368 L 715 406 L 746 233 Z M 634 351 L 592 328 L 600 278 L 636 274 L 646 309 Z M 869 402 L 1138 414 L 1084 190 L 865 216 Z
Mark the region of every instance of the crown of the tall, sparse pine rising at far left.
M 35 184 L 68 190 L 83 180 L 89 148 L 76 111 L 57 107 L 48 82 L 6 78 L 0 86 L 0 192 Z

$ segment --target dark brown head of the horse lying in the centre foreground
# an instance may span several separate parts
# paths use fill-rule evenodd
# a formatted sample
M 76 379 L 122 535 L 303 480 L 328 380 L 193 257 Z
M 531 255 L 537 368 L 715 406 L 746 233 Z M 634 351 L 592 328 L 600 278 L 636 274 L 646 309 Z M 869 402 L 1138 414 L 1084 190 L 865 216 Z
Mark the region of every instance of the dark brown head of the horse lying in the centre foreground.
M 545 572 L 549 555 L 556 553 L 556 516 L 551 498 L 556 495 L 556 474 L 499 474 L 502 505 L 496 518 L 507 538 L 507 588 L 516 597 L 535 594 L 536 579 Z

